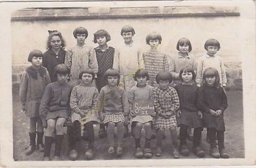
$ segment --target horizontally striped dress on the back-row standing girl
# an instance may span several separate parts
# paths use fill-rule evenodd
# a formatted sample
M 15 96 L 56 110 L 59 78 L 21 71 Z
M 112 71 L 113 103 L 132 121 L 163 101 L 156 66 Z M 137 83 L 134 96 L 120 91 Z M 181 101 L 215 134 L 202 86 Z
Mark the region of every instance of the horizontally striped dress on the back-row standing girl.
M 157 49 L 149 49 L 139 55 L 139 66 L 148 71 L 150 86 L 157 86 L 156 74 L 161 70 L 169 71 L 169 57 L 168 55 L 158 51 Z

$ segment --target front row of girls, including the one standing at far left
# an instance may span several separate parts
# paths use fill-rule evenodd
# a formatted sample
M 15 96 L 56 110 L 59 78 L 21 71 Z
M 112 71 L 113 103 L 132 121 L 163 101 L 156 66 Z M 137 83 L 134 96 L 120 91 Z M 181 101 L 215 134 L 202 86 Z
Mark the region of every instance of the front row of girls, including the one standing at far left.
M 113 68 L 108 69 L 104 73 L 104 79 L 108 84 L 98 93 L 98 90 L 92 85 L 95 75 L 90 69 L 86 69 L 79 74 L 82 82 L 72 88 L 72 85 L 66 80 L 69 68 L 65 64 L 59 64 L 54 68 L 54 75 L 57 81 L 48 84 L 48 72 L 45 68 L 41 67 L 42 53 L 32 51 L 29 61 L 32 63 L 32 66 L 26 70 L 22 81 L 25 81 L 27 78 L 33 80 L 22 82 L 20 94 L 22 107 L 24 111 L 27 111 L 26 114 L 33 111 L 36 113 L 37 109 L 39 109 L 41 120 L 36 118 L 38 116 L 36 114 L 28 116 L 31 117 L 31 125 L 32 123 L 39 123 L 38 132 L 41 130 L 40 121 L 42 121 L 42 126 L 45 128 L 45 145 L 40 140 L 41 135 L 38 141 L 40 151 L 44 148 L 43 160 L 51 160 L 50 149 L 54 141 L 55 152 L 53 160 L 60 160 L 60 150 L 64 137 L 63 126 L 69 118 L 71 118 L 73 123 L 72 126 L 79 124 L 83 127 L 84 133 L 86 133 L 84 137 L 86 136 L 88 139 L 88 148 L 85 152 L 85 158 L 88 160 L 94 157 L 93 123 L 100 121 L 107 126 L 108 153 L 110 155 L 122 155 L 124 124 L 130 122 L 135 139 L 136 149 L 134 156 L 136 158 L 151 158 L 153 156 L 150 147 L 153 117 L 156 117 L 154 128 L 157 130 L 158 135 L 156 139 L 156 156 L 161 156 L 162 154 L 164 129 L 170 130 L 173 157 L 179 158 L 179 154 L 188 156 L 190 151 L 186 144 L 186 130 L 188 127 L 191 127 L 194 128 L 193 152 L 198 157 L 204 157 L 204 150 L 200 147 L 201 131 L 204 122 L 204 126 L 209 130 L 211 156 L 213 158 L 229 158 L 229 154 L 224 147 L 225 125 L 223 119 L 224 111 L 228 104 L 226 94 L 220 86 L 218 71 L 215 68 L 206 68 L 203 73 L 204 85 L 200 90 L 194 84 L 195 74 L 192 69 L 185 68 L 180 70 L 182 82 L 176 85 L 175 88 L 170 86 L 172 82 L 170 72 L 160 71 L 156 75 L 158 86 L 153 88 L 146 84 L 148 72 L 140 69 L 134 75 L 137 85 L 128 91 L 128 95 L 126 95 L 124 89 L 118 86 L 120 74 Z M 41 80 L 42 82 L 40 82 Z M 43 88 L 35 88 L 39 86 L 38 82 L 40 82 Z M 25 86 L 25 84 L 27 85 Z M 48 85 L 46 86 L 46 84 Z M 37 96 L 39 98 L 38 101 L 42 98 L 40 107 L 36 108 L 35 104 L 33 106 L 35 109 L 31 112 L 28 109 L 30 108 L 28 107 L 30 104 L 28 96 L 34 93 L 29 94 L 28 92 L 39 93 L 36 89 L 44 90 L 44 94 L 41 97 L 40 95 Z M 32 96 L 30 97 L 32 98 Z M 143 107 L 146 107 L 146 110 Z M 176 133 L 178 125 L 180 126 L 179 150 Z M 117 127 L 117 145 L 114 145 L 115 126 Z M 144 127 L 146 138 L 144 147 L 140 145 L 142 127 Z M 36 148 L 34 145 L 35 136 L 32 137 L 35 128 L 31 127 L 31 129 L 34 130 L 30 130 L 30 153 Z M 75 137 L 76 135 L 68 135 L 71 160 L 76 160 L 77 158 Z

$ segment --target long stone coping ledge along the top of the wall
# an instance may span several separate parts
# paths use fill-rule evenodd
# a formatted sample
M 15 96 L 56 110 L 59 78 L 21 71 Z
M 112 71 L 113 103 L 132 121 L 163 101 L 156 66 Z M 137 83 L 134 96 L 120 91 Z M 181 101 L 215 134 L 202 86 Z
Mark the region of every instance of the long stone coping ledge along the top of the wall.
M 24 8 L 11 21 L 240 16 L 237 6 Z

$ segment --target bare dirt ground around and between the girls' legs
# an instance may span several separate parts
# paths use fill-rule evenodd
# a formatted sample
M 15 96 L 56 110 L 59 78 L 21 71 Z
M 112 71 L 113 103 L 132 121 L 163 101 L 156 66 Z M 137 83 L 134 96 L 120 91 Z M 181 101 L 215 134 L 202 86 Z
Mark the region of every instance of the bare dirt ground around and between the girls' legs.
M 230 153 L 230 158 L 244 158 L 244 124 L 243 124 L 243 104 L 242 104 L 242 91 L 228 91 L 228 109 L 224 112 L 224 119 L 226 124 L 225 132 L 225 147 Z M 24 160 L 42 160 L 43 153 L 35 151 L 30 156 L 26 156 L 26 150 L 29 145 L 29 119 L 26 118 L 25 114 L 20 112 L 21 104 L 19 102 L 19 97 L 17 92 L 13 94 L 13 150 L 14 150 L 14 160 L 24 161 Z M 132 137 L 127 137 L 124 139 L 123 155 L 121 158 L 108 156 L 107 149 L 107 139 L 99 139 L 98 137 L 99 126 L 95 125 L 95 160 L 110 160 L 110 159 L 136 159 L 134 157 L 134 139 Z M 178 132 L 178 129 L 177 129 Z M 78 150 L 78 160 L 84 160 L 85 148 L 87 141 L 80 140 L 76 143 L 76 148 Z M 142 138 L 142 143 L 144 139 Z M 166 138 L 163 140 L 163 153 L 162 156 L 153 156 L 153 159 L 173 159 L 171 155 L 171 140 L 170 133 L 166 131 Z M 69 160 L 68 158 L 68 148 L 67 148 L 67 137 L 65 136 L 61 158 L 62 160 Z M 188 141 L 188 146 L 192 149 L 192 142 Z M 153 152 L 156 147 L 156 140 L 152 140 L 151 147 Z M 211 158 L 209 152 L 209 144 L 206 142 L 206 130 L 202 132 L 202 147 L 206 152 L 205 158 Z M 54 145 L 51 150 L 51 156 L 54 153 Z M 192 152 L 189 156 L 180 156 L 180 158 L 197 158 Z

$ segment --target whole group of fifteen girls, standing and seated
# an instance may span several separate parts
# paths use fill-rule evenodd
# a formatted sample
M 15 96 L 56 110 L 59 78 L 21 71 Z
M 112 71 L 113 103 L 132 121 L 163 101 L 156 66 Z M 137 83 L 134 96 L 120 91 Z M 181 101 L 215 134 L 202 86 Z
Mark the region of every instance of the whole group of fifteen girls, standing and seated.
M 85 44 L 88 31 L 78 27 L 73 32 L 76 45 L 65 51 L 62 34 L 54 30 L 49 31 L 48 50 L 44 54 L 38 50 L 30 52 L 28 61 L 32 66 L 26 69 L 20 83 L 22 111 L 30 117 L 27 155 L 38 148 L 44 151 L 43 160 L 51 160 L 50 149 L 55 141 L 53 160 L 60 160 L 63 126 L 70 120 L 68 147 L 71 160 L 78 157 L 78 134 L 88 140 L 85 158 L 94 157 L 93 124 L 97 122 L 100 123 L 100 136 L 107 136 L 111 155 L 122 155 L 124 134 L 127 125 L 131 124 L 136 158 L 153 156 L 150 142 L 155 131 L 155 155 L 161 156 L 165 129 L 170 130 L 173 157 L 179 158 L 179 154 L 188 156 L 190 151 L 186 139 L 192 128 L 193 152 L 204 157 L 204 150 L 200 147 L 203 127 L 207 128 L 211 156 L 229 158 L 224 148 L 223 112 L 228 107 L 224 90 L 226 74 L 222 59 L 216 55 L 220 43 L 208 39 L 204 45 L 207 53 L 196 63 L 190 54 L 192 45 L 186 38 L 178 41 L 178 54 L 169 57 L 158 50 L 162 41 L 160 33 L 147 35 L 146 44 L 150 49 L 143 52 L 134 45 L 134 34 L 131 26 L 122 28 L 124 45 L 119 51 L 107 45 L 110 35 L 101 29 L 94 33 L 94 43 L 99 46 L 92 49 Z M 148 105 L 148 109 L 138 114 L 134 104 Z M 141 147 L 143 127 L 146 141 Z

